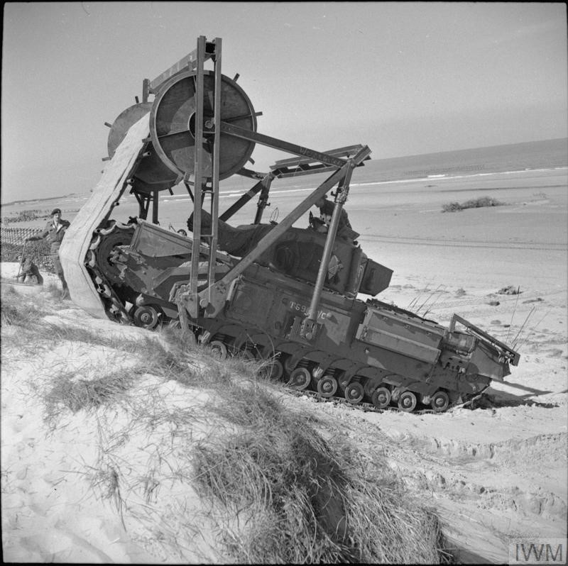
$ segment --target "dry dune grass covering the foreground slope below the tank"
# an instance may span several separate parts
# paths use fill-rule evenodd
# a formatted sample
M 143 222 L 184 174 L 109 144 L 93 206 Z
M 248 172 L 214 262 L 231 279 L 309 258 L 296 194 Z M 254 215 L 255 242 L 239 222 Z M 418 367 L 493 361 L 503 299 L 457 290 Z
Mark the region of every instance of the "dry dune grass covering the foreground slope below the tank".
M 26 341 L 36 348 L 80 342 L 138 360 L 124 370 L 109 365 L 46 376 L 38 391 L 52 433 L 62 415 L 84 411 L 97 418 L 91 489 L 114 501 L 125 525 L 144 521 L 166 558 L 184 556 L 192 544 L 188 533 L 200 533 L 207 518 L 224 562 L 448 561 L 437 517 L 408 493 L 379 451 L 363 455 L 339 425 L 290 409 L 291 399 L 284 402 L 282 387 L 263 377 L 258 362 L 219 360 L 172 328 L 142 336 L 138 329 L 120 334 L 120 326 L 116 333 L 114 326 L 112 333 L 56 326 L 33 310 L 33 300 L 41 299 L 24 306 L 8 299 L 3 322 L 13 326 L 27 317 Z M 136 388 L 142 374 L 154 376 L 153 389 Z M 168 404 L 160 384 L 187 391 L 187 406 Z M 195 401 L 200 392 L 207 401 Z M 126 424 L 111 431 L 105 415 L 119 408 Z M 137 431 L 148 439 L 162 434 L 127 453 L 141 458 L 138 466 L 119 453 Z M 181 492 L 172 492 L 178 485 Z M 202 518 L 180 499 L 191 490 L 204 506 Z M 170 501 L 166 507 L 151 504 L 158 491 L 160 501 Z M 135 492 L 144 501 L 139 506 Z

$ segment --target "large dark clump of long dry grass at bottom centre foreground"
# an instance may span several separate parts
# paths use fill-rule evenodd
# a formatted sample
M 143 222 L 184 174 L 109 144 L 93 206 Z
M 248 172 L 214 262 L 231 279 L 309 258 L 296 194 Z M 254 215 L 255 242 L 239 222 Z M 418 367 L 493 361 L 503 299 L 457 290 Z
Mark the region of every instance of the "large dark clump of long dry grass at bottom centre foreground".
M 226 509 L 220 528 L 231 560 L 444 560 L 436 516 L 384 460 L 369 465 L 341 435 L 327 442 L 310 414 L 286 410 L 255 382 L 231 384 L 209 410 L 238 427 L 194 449 L 200 493 Z

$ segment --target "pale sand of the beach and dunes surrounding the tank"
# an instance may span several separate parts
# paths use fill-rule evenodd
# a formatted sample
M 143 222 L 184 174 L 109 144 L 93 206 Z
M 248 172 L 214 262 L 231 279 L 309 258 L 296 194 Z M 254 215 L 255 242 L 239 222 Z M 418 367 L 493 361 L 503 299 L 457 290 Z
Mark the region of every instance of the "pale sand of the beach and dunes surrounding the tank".
M 479 196 L 503 206 L 442 213 L 444 204 Z M 282 218 L 297 198 L 275 193 L 272 209 L 278 207 Z M 354 186 L 346 209 L 364 252 L 394 270 L 391 287 L 379 299 L 440 323 L 458 313 L 514 343 L 520 363 L 506 382 L 493 382 L 474 410 L 364 413 L 297 396 L 286 396 L 285 403 L 340 424 L 364 453 L 384 453 L 408 489 L 437 511 L 464 562 L 507 562 L 513 538 L 566 538 L 567 170 Z M 241 215 L 235 223 L 244 221 L 245 211 Z M 1 269 L 3 292 L 16 289 L 7 282 L 17 265 Z M 508 286 L 520 293 L 499 293 Z M 91 318 L 71 301 L 41 293 L 46 296 L 41 316 L 53 328 L 86 329 L 116 340 L 148 334 Z M 3 343 L 13 331 L 3 324 Z M 135 481 L 148 460 L 158 458 L 155 447 L 180 441 L 170 429 L 129 429 L 133 405 L 63 414 L 51 431 L 45 423 L 38 392 L 54 372 L 88 377 L 139 361 L 82 341 L 18 348 L 12 340 L 2 348 L 4 561 L 224 561 L 207 509 L 187 484 L 184 491 L 165 465 L 153 465 L 159 496 Z M 150 398 L 163 406 L 192 407 L 207 397 L 198 391 L 188 396 L 151 374 L 141 377 L 133 395 L 148 411 Z M 207 434 L 202 426 L 185 433 Z M 120 449 L 110 450 L 113 443 Z M 175 467 L 173 454 L 168 452 L 168 465 Z M 92 471 L 110 457 L 123 462 L 126 508 L 97 491 Z M 186 507 L 180 511 L 182 499 Z

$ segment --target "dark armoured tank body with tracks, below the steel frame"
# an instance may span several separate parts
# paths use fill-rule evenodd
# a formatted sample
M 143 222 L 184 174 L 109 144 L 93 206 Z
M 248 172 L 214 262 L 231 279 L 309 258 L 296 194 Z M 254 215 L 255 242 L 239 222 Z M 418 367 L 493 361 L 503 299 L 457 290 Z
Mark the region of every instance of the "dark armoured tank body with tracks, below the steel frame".
M 310 230 L 297 232 L 310 239 L 323 238 Z M 293 235 L 294 241 L 301 240 Z M 177 320 L 175 294 L 189 279 L 190 239 L 145 221 L 116 224 L 106 238 L 110 245 L 105 245 L 103 236 L 90 250 L 92 280 L 103 276 L 111 282 L 112 293 L 138 326 L 154 328 Z M 360 248 L 343 245 L 347 250 L 335 250 L 342 260 L 350 251 L 357 267 L 368 266 Z M 271 261 L 278 256 L 278 245 L 274 247 L 275 253 L 268 250 L 264 261 L 254 262 L 234 279 L 222 313 L 190 319 L 200 342 L 212 345 L 222 356 L 266 360 L 272 377 L 296 389 L 312 389 L 327 398 L 341 396 L 352 404 L 368 402 L 378 409 L 398 406 L 403 411 L 424 407 L 444 411 L 465 403 L 481 394 L 492 379 L 502 381 L 510 372 L 509 362 L 518 361 L 512 350 L 458 316 L 445 328 L 391 304 L 356 298 L 354 289 L 365 282 L 364 267 L 349 270 L 359 273 L 359 281 L 330 278 L 317 311 L 318 331 L 307 340 L 300 329 L 313 280 L 308 280 L 309 275 L 297 277 L 295 262 L 288 266 L 296 270 L 294 276 L 278 270 Z M 219 252 L 217 279 L 238 262 L 238 257 Z M 104 265 L 110 267 L 103 273 Z M 376 262 L 372 265 L 375 289 L 383 290 L 392 272 Z M 306 266 L 305 274 L 309 272 Z M 457 324 L 463 326 L 461 331 Z

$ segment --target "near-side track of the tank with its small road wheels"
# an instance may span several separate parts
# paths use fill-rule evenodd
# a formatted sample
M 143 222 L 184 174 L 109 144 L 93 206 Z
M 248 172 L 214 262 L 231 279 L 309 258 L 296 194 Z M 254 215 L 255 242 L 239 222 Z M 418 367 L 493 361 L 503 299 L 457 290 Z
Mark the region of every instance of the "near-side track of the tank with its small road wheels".
M 158 316 L 138 316 L 137 293 L 122 284 L 119 270 L 112 262 L 114 249 L 119 245 L 128 245 L 133 232 L 134 226 L 111 221 L 95 232 L 89 246 L 85 265 L 101 296 L 107 316 L 115 322 L 148 329 L 165 323 L 179 323 L 165 316 L 159 305 L 155 305 Z M 128 307 L 127 302 L 133 306 Z M 140 308 L 148 309 L 148 305 Z M 334 359 L 322 351 L 310 351 L 306 345 L 273 338 L 260 328 L 246 327 L 238 321 L 202 318 L 192 321 L 191 325 L 197 342 L 209 345 L 219 357 L 240 355 L 250 360 L 265 360 L 270 367 L 271 379 L 285 382 L 292 394 L 307 395 L 317 401 L 342 404 L 361 411 L 425 414 L 441 413 L 455 406 L 471 404 L 483 393 L 472 394 L 464 399 L 455 392 L 444 391 L 439 406 L 422 406 L 420 394 L 406 388 L 397 390 L 396 378 L 403 378 L 393 372 L 383 372 L 382 376 L 383 379 L 393 377 L 391 384 L 382 382 L 378 377 L 357 375 L 357 369 L 345 372 L 341 365 L 343 362 L 349 366 L 349 360 Z M 377 368 L 376 372 L 381 370 Z M 340 376 L 345 373 L 349 377 L 342 383 Z M 373 397 L 379 389 L 381 394 Z M 393 403 L 398 406 L 393 406 Z

